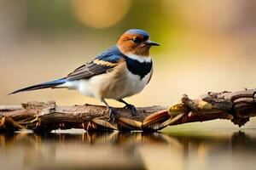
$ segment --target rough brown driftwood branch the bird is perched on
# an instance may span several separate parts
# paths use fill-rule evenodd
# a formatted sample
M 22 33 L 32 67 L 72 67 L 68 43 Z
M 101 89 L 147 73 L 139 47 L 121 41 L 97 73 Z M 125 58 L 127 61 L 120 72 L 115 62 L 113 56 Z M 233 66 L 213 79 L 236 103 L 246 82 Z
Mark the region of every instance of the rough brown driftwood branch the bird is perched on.
M 150 106 L 137 108 L 136 116 L 125 108 L 114 122 L 108 122 L 107 108 L 100 105 L 59 106 L 49 103 L 29 102 L 13 106 L 0 106 L 0 131 L 31 129 L 50 132 L 55 129 L 84 128 L 87 131 L 143 130 L 157 131 L 164 127 L 186 122 L 204 122 L 228 119 L 241 127 L 256 116 L 256 89 L 238 92 L 209 92 L 199 99 L 183 95 L 180 102 L 169 107 Z

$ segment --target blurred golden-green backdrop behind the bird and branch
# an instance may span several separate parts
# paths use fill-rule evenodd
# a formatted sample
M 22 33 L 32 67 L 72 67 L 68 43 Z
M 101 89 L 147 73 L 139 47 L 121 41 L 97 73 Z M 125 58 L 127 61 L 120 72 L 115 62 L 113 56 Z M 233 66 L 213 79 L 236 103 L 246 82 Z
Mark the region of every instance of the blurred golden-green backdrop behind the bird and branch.
M 150 33 L 154 76 L 137 106 L 170 105 L 182 94 L 256 88 L 256 1 L 0 0 L 0 105 L 55 100 L 100 104 L 65 89 L 8 96 L 18 88 L 65 77 L 131 28 Z M 120 106 L 114 101 L 111 105 Z M 256 127 L 255 120 L 247 127 Z M 226 121 L 181 127 L 235 127 Z

